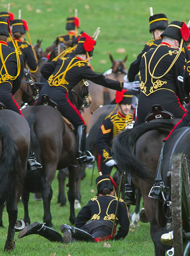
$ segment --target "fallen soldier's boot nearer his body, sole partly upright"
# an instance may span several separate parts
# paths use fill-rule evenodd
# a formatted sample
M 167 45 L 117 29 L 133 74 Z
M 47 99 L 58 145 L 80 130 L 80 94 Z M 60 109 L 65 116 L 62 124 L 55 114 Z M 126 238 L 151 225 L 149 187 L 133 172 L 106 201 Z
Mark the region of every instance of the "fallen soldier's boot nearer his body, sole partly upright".
M 77 241 L 95 241 L 93 236 L 77 227 L 71 227 L 69 225 L 62 224 L 60 226 L 60 231 L 63 233 L 63 243 L 70 243 L 72 238 Z

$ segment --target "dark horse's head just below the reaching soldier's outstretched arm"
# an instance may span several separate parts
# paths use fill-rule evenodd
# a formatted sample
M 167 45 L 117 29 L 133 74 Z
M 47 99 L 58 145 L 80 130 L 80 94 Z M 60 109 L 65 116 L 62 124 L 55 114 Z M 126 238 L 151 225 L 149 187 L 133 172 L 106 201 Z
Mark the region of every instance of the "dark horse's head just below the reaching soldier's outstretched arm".
M 84 80 L 79 82 L 69 93 L 69 98 L 72 104 L 79 110 L 88 108 L 92 102 L 92 98 L 89 94 L 89 83 Z

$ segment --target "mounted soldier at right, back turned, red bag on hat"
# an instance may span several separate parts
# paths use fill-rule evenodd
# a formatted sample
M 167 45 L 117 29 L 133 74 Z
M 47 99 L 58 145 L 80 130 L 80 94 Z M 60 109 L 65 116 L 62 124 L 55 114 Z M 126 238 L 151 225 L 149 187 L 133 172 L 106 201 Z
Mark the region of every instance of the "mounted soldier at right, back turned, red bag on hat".
M 183 76 L 185 54 L 183 42 L 189 37 L 185 23 L 173 21 L 161 34 L 162 42 L 145 52 L 141 59 L 141 92 L 138 100 L 136 125 L 144 122 L 153 105 L 160 105 L 176 118 L 186 110 L 182 107 L 184 90 L 178 76 Z

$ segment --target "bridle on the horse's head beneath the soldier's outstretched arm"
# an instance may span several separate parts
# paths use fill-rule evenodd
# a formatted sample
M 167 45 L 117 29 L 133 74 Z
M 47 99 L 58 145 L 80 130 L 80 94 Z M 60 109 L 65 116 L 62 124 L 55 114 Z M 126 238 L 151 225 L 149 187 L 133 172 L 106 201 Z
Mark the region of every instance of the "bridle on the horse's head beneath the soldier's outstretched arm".
M 78 108 L 78 110 L 83 111 L 84 108 L 89 107 L 88 98 L 89 98 L 89 83 L 84 81 L 81 85 L 82 90 L 78 93 L 76 90 L 72 89 L 69 92 L 69 98 L 73 105 Z M 77 100 L 75 99 L 75 95 L 77 96 Z

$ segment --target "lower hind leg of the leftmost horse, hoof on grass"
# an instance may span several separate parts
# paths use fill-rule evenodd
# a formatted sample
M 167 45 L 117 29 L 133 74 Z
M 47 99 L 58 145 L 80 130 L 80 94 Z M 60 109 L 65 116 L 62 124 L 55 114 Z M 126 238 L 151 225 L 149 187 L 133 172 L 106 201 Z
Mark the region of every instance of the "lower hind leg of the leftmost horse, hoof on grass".
M 9 227 L 7 233 L 7 239 L 4 250 L 12 251 L 15 248 L 14 244 L 14 225 L 17 221 L 18 209 L 17 209 L 17 192 L 6 203 L 6 210 L 9 216 Z

